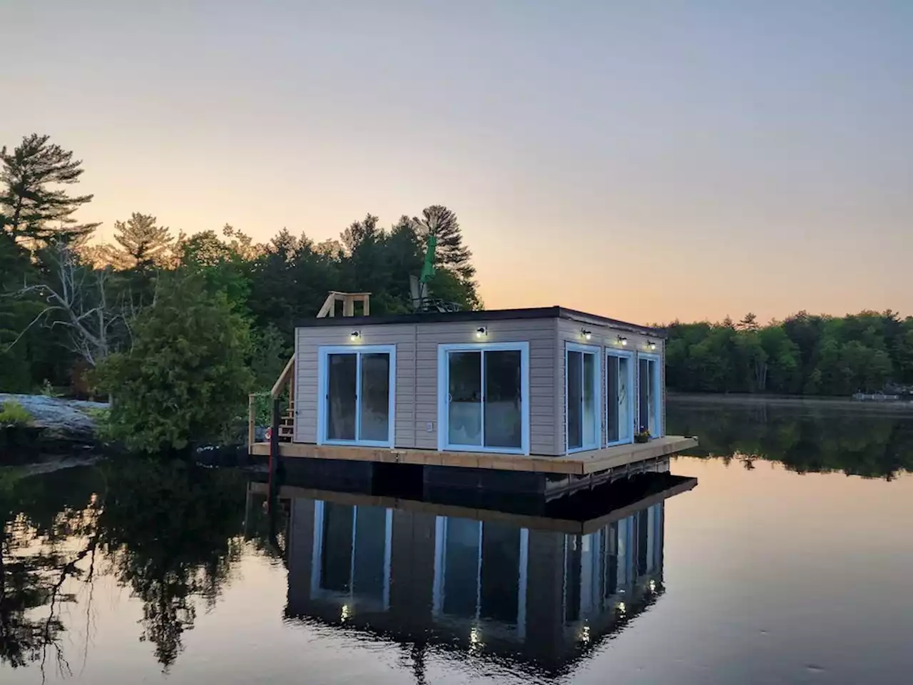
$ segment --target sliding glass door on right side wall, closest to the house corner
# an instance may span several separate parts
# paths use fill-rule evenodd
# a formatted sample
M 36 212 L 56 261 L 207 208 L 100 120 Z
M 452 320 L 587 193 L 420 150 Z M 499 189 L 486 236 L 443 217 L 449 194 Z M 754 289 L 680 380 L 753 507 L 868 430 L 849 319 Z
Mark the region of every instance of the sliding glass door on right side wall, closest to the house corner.
M 568 452 L 600 445 L 599 348 L 568 343 L 564 364 Z

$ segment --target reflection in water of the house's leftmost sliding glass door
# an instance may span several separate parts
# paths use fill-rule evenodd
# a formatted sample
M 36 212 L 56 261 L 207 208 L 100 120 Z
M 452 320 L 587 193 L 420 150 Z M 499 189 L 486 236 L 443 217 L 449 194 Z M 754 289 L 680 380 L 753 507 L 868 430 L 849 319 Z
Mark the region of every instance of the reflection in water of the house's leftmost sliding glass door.
M 314 502 L 310 594 L 390 606 L 393 510 Z

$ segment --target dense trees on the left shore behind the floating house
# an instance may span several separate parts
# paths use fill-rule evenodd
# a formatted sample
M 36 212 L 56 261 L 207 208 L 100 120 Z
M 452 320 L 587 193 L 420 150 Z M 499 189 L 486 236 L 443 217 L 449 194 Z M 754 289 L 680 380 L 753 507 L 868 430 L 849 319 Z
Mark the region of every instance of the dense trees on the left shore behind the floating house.
M 482 306 L 456 214 L 430 205 L 383 227 L 368 215 L 337 239 L 283 228 L 266 243 L 225 225 L 186 235 L 153 214 L 114 224 L 75 215 L 92 195 L 47 135 L 0 150 L 0 391 L 114 395 L 111 427 L 150 450 L 216 439 L 268 388 L 293 348 L 296 321 L 329 290 L 371 292 L 373 314 L 412 310 L 432 237 L 430 292 Z M 177 399 L 176 399 L 177 398 Z

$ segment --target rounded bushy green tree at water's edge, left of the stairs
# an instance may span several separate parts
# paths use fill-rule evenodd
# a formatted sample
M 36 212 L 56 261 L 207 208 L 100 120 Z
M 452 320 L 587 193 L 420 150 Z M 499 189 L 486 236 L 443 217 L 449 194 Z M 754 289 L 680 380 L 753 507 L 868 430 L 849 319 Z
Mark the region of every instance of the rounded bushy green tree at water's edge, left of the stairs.
M 146 452 L 215 441 L 241 415 L 253 377 L 247 321 L 199 273 L 163 279 L 142 311 L 129 352 L 99 369 L 112 395 L 112 437 Z

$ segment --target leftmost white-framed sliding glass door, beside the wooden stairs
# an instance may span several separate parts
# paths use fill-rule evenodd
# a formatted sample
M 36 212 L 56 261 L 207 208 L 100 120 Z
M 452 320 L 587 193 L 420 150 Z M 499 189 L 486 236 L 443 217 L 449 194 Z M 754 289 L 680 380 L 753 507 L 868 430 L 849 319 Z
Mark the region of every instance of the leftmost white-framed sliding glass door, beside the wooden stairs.
M 318 442 L 393 445 L 395 349 L 320 348 Z

